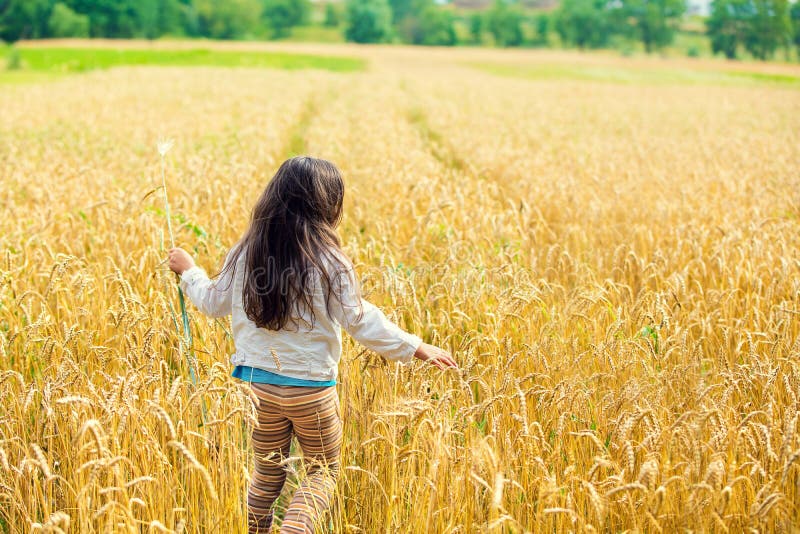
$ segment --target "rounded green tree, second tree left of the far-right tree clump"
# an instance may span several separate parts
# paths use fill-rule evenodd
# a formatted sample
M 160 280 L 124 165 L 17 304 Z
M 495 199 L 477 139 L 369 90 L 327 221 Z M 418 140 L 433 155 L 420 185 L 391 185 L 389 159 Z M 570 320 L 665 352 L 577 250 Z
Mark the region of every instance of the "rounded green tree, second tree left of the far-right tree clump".
M 616 30 L 604 0 L 564 0 L 553 18 L 561 41 L 580 49 L 608 45 Z

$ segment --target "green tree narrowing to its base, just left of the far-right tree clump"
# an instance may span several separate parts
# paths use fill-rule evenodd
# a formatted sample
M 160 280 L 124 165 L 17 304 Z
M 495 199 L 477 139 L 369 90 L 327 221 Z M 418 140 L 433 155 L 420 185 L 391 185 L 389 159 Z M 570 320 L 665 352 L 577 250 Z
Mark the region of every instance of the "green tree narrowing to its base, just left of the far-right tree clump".
M 675 28 L 686 12 L 685 0 L 622 0 L 631 33 L 650 53 L 672 42 Z

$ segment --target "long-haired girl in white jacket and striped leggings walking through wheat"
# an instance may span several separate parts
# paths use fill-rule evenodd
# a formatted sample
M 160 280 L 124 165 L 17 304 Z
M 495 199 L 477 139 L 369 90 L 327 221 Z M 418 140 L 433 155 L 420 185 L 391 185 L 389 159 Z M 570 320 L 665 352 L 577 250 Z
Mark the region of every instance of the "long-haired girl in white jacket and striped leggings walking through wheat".
M 267 184 L 250 227 L 210 280 L 183 249 L 169 267 L 200 311 L 232 315 L 233 376 L 258 398 L 255 469 L 247 494 L 251 533 L 272 526 L 272 505 L 286 480 L 282 460 L 292 435 L 309 466 L 281 532 L 314 532 L 329 508 L 338 476 L 342 421 L 336 375 L 341 327 L 388 360 L 456 367 L 446 351 L 422 343 L 363 300 L 335 228 L 344 183 L 329 161 L 292 158 Z

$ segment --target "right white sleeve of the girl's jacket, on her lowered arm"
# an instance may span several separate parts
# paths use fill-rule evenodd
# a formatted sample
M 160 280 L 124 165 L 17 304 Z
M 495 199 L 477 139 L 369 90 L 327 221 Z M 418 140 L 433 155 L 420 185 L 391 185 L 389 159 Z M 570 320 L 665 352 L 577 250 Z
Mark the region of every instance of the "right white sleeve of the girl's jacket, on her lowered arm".
M 341 298 L 333 297 L 331 315 L 356 341 L 387 360 L 408 362 L 422 344 L 422 339 L 409 334 L 386 318 L 381 310 L 362 299 L 352 265 L 331 274 L 331 283 Z

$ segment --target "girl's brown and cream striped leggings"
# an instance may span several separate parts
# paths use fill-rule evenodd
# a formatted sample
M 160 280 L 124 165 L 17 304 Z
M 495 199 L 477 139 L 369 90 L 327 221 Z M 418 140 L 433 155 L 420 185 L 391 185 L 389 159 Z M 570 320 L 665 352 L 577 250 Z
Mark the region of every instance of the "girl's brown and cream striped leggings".
M 258 397 L 253 429 L 255 469 L 247 493 L 250 534 L 271 532 L 273 503 L 286 481 L 292 435 L 306 462 L 306 477 L 286 510 L 281 533 L 321 532 L 339 474 L 342 420 L 336 386 L 299 387 L 251 384 Z

